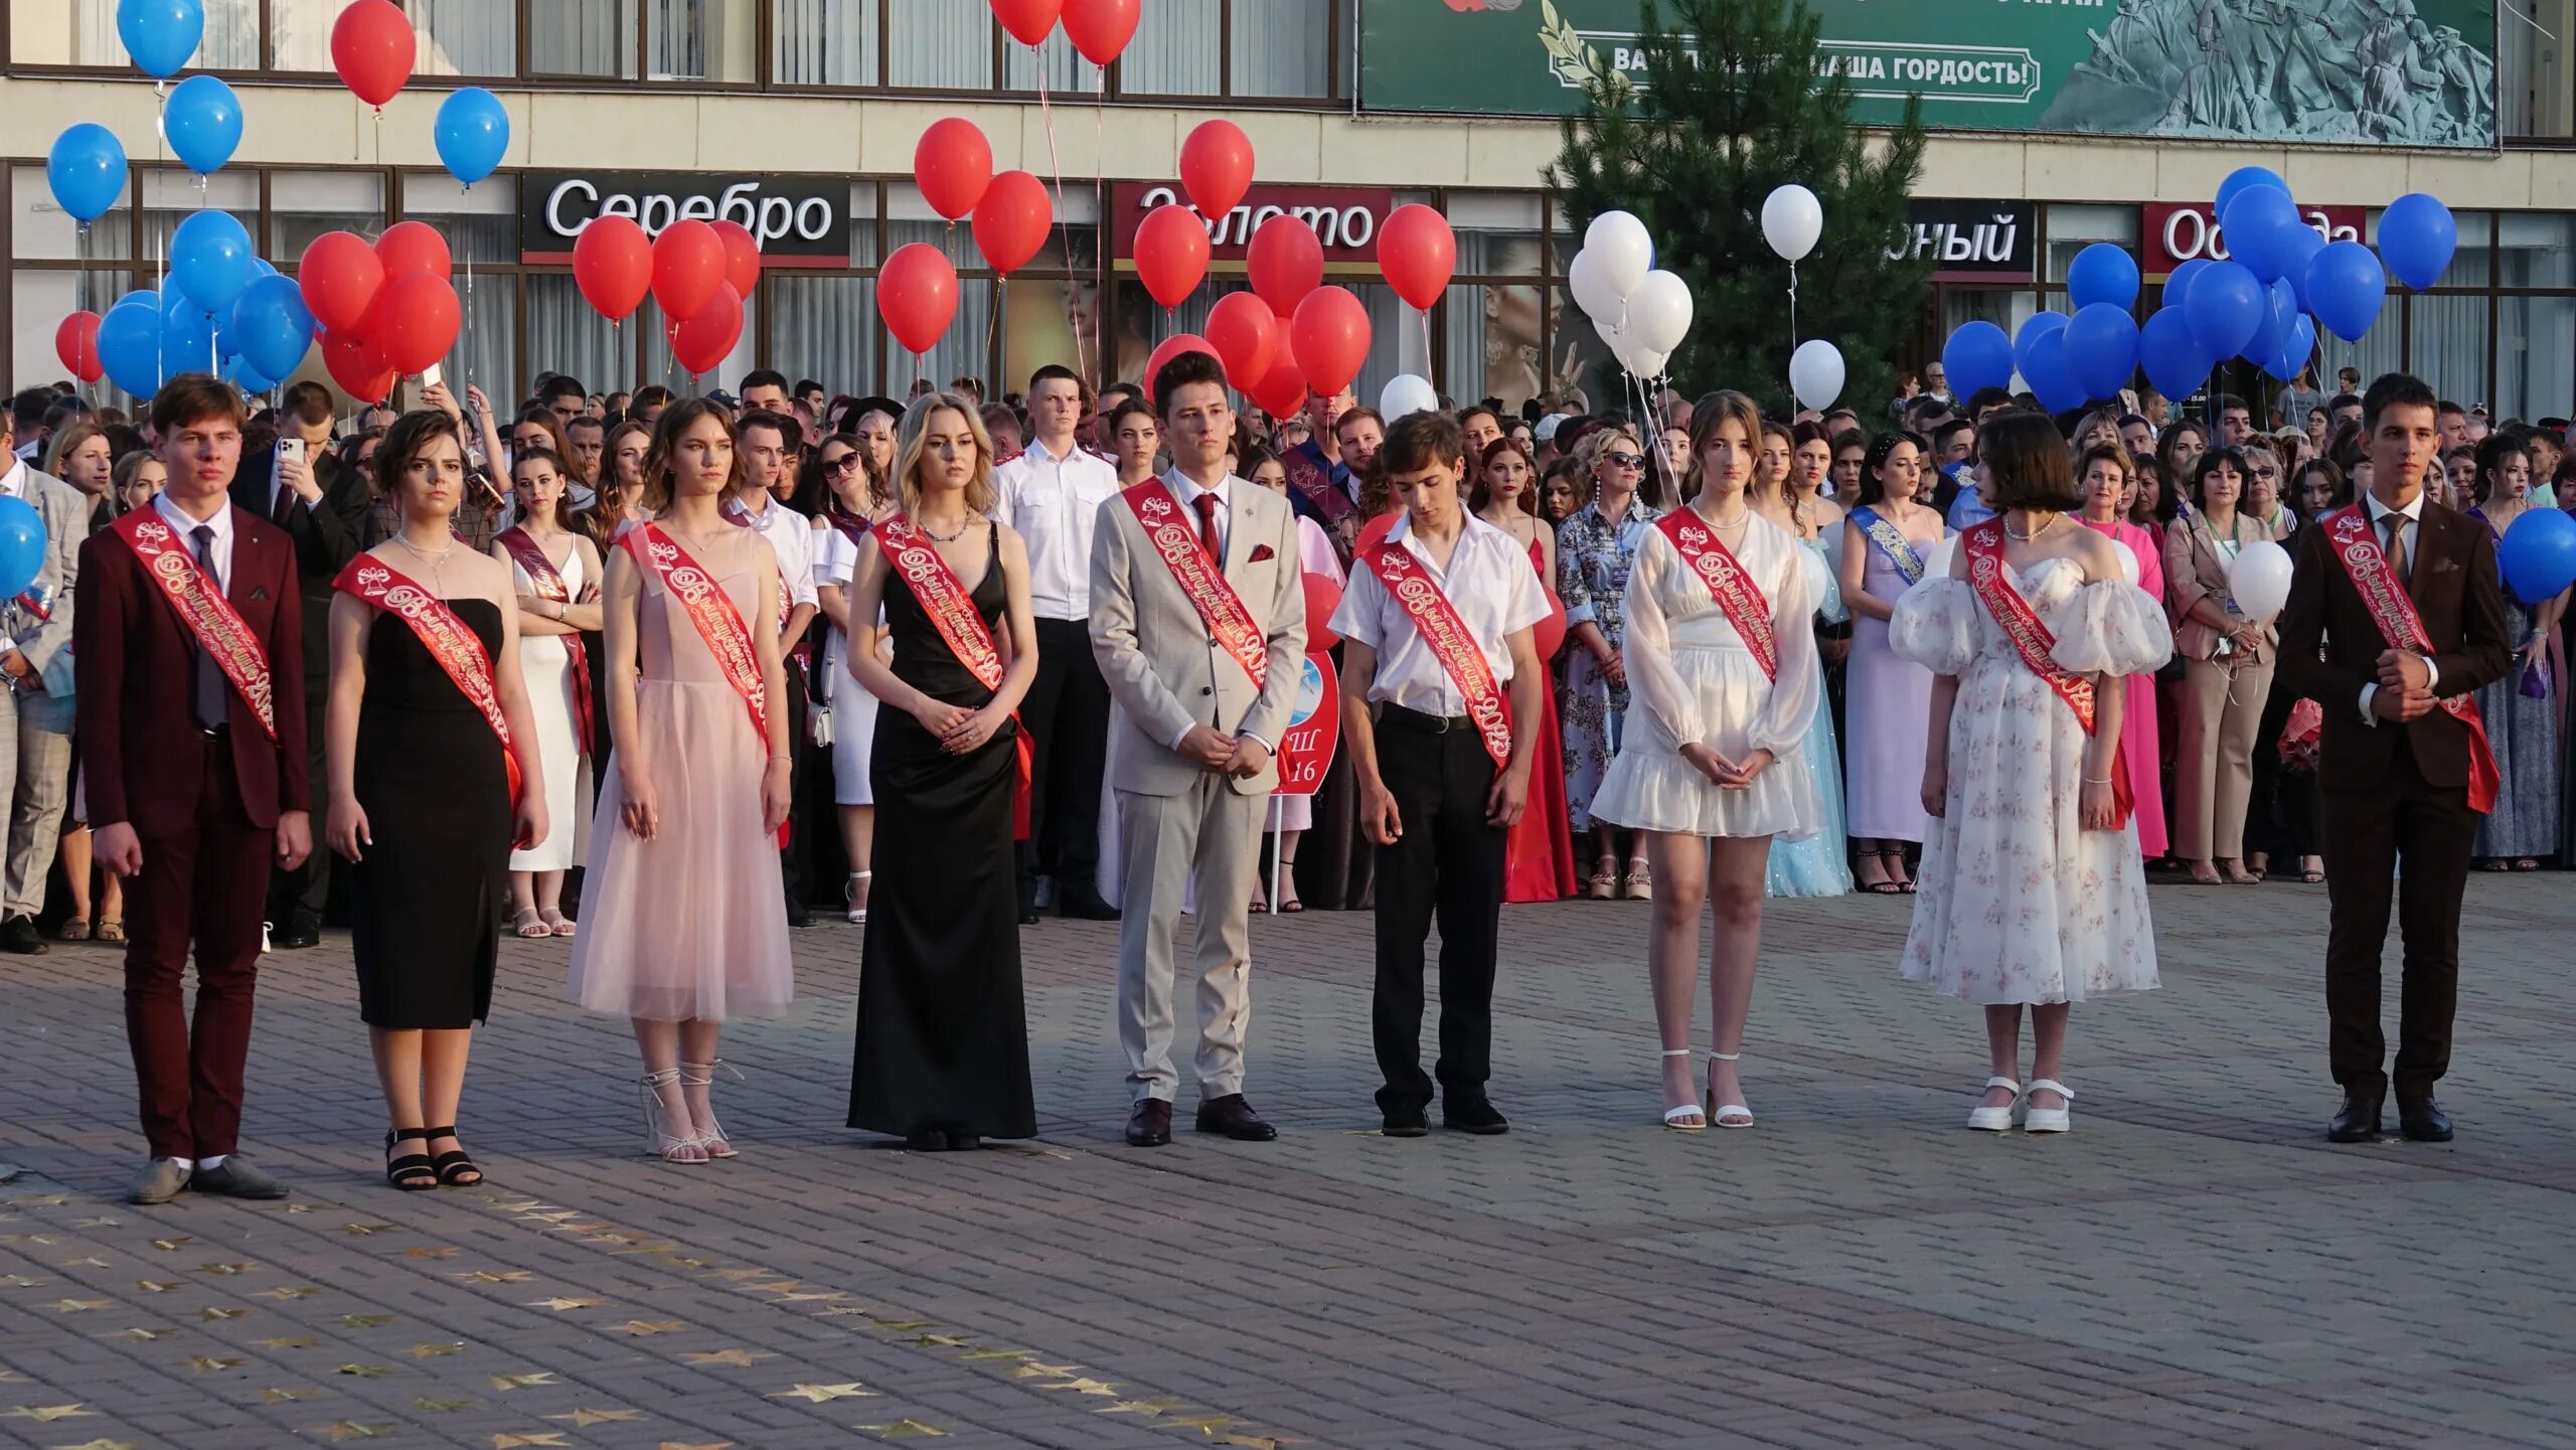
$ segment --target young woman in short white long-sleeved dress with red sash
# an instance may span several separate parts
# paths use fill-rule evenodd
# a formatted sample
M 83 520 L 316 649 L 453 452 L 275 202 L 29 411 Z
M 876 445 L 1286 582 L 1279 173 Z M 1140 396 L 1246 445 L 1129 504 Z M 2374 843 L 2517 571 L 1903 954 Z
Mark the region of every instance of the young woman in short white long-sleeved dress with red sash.
M 1710 394 L 1690 428 L 1698 474 L 1687 507 L 1643 531 L 1628 577 L 1628 724 L 1592 814 L 1646 832 L 1656 876 L 1654 1020 L 1664 1038 L 1664 1125 L 1752 1128 L 1736 1079 L 1762 956 L 1762 876 L 1772 837 L 1816 834 L 1821 809 L 1803 742 L 1821 698 L 1814 582 L 1798 536 L 1757 515 L 1744 489 L 1762 415 L 1739 391 Z M 1698 567 L 1687 551 L 1703 554 Z M 1734 567 L 1728 569 L 1728 559 Z M 1718 582 L 1744 618 L 1718 603 Z M 1708 1097 L 1690 1074 L 1690 1004 L 1708 950 Z

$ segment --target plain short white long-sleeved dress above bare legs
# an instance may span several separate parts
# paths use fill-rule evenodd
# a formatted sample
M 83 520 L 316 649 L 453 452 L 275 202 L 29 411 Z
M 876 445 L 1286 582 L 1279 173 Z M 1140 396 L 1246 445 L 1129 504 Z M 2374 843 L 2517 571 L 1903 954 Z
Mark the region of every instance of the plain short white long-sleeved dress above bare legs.
M 1754 664 L 1744 636 L 1672 538 L 1649 528 L 1628 574 L 1628 634 L 1620 641 L 1628 719 L 1618 760 L 1592 798 L 1597 819 L 1643 832 L 1793 842 L 1824 829 L 1806 760 L 1824 677 L 1806 546 L 1754 515 L 1734 554 L 1770 605 L 1777 680 Z M 1690 742 L 1726 760 L 1767 749 L 1772 765 L 1754 775 L 1752 788 L 1721 791 L 1682 760 Z

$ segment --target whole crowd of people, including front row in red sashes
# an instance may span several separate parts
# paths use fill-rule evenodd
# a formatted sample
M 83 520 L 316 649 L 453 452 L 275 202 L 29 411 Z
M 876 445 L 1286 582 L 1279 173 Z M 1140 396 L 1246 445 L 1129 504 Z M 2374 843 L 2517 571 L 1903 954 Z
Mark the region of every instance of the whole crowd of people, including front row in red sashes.
M 142 422 L 21 394 L 0 492 L 44 513 L 52 554 L 0 616 L 21 731 L 0 945 L 44 950 L 57 865 L 59 935 L 129 943 L 137 1198 L 281 1192 L 232 1156 L 252 963 L 263 930 L 309 945 L 337 912 L 404 1190 L 479 1182 L 456 1118 L 495 927 L 572 937 L 572 997 L 634 1022 L 649 1149 L 698 1164 L 737 1151 L 721 1025 L 788 1004 L 791 927 L 827 909 L 866 930 L 850 1123 L 917 1149 L 1036 1131 L 1018 930 L 1046 909 L 1121 922 L 1139 1146 L 1172 1131 L 1180 956 L 1198 1128 L 1273 1136 L 1244 1097 L 1247 917 L 1306 907 L 1376 912 L 1386 1133 L 1427 1131 L 1435 1097 L 1504 1131 L 1499 909 L 1569 896 L 1651 904 L 1664 1123 L 1744 1128 L 1762 899 L 1855 889 L 1922 894 L 1904 974 L 1986 1010 L 1973 1125 L 2063 1131 L 2066 1010 L 2156 986 L 2148 871 L 2331 881 L 2339 919 L 2375 889 L 2385 930 L 2388 871 L 2339 840 L 2321 770 L 2349 734 L 2326 664 L 2347 641 L 2313 598 L 2329 520 L 2421 484 L 2406 502 L 2445 510 L 2409 510 L 2424 546 L 2439 518 L 2494 579 L 2522 510 L 2576 507 L 2563 420 L 2427 394 L 2421 446 L 2383 438 L 2411 379 L 2367 399 L 2349 379 L 2303 420 L 2285 389 L 2277 433 L 2231 397 L 2210 425 L 2154 394 L 2053 420 L 1940 379 L 1875 430 L 1734 391 L 1239 415 L 1200 355 L 1149 381 L 1041 368 L 994 402 L 974 379 L 894 402 L 775 371 L 739 397 L 546 376 L 510 415 L 433 384 L 345 430 L 317 384 L 252 415 L 191 376 Z M 2254 541 L 2300 554 L 2282 618 L 2231 598 Z M 2576 863 L 2563 610 L 2504 600 L 2494 670 L 2439 657 L 2442 701 L 2476 685 L 2494 744 L 2465 850 L 2491 871 Z M 2427 605 L 2437 634 L 2486 628 L 2468 613 Z M 162 628 L 124 634 L 142 623 Z M 1314 796 L 1273 798 L 1327 639 L 1342 752 Z M 2421 729 L 2439 680 L 2378 675 Z M 878 824 L 907 850 L 876 852 Z M 2360 968 L 2329 976 L 2336 1079 L 2375 1131 Z M 2409 997 L 2409 1123 L 2439 1077 L 2414 1017 Z M 2447 997 L 2442 1020 L 2447 1053 Z

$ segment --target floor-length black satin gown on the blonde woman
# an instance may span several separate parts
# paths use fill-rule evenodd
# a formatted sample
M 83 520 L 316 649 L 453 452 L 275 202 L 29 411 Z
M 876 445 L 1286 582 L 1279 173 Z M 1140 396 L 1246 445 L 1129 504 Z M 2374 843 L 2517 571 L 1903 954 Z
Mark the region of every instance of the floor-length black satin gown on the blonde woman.
M 1002 639 L 999 528 L 971 598 Z M 958 664 L 902 579 L 886 582 L 894 675 L 925 695 L 984 708 L 992 701 Z M 876 881 L 858 971 L 858 1053 L 850 1125 L 912 1136 L 1033 1138 L 1028 1015 L 1020 1004 L 1020 889 L 1010 793 L 1018 726 L 981 749 L 948 755 L 904 711 L 876 719 Z

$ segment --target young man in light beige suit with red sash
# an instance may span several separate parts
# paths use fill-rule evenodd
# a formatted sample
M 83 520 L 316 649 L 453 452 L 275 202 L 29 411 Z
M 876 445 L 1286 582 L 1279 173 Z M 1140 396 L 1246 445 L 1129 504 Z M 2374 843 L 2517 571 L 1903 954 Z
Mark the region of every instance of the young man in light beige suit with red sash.
M 1126 1138 L 1172 1141 L 1172 937 L 1198 878 L 1198 1131 L 1278 1136 L 1244 1102 L 1252 878 L 1260 822 L 1306 654 L 1296 515 L 1226 474 L 1226 373 L 1182 353 L 1154 376 L 1172 471 L 1100 505 L 1092 654 L 1110 685 L 1110 783 L 1126 881 L 1118 1043 Z

